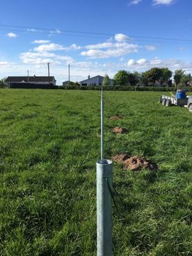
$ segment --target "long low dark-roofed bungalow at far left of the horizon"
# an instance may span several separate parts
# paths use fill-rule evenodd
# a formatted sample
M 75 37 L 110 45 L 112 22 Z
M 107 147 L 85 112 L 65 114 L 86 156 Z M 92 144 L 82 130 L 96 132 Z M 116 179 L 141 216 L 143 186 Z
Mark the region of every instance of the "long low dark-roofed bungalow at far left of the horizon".
M 56 86 L 56 79 L 54 77 L 8 77 L 5 81 L 9 88 L 30 88 L 38 86 Z M 33 85 L 33 86 L 32 86 Z

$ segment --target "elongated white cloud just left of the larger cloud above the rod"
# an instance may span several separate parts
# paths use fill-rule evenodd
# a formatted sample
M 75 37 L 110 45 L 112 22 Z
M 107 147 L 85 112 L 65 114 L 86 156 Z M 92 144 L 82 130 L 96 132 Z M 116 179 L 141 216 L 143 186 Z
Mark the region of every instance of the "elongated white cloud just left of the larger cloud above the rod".
M 70 45 L 69 47 L 63 47 L 63 45 L 51 43 L 49 45 L 45 45 L 45 44 L 39 45 L 38 47 L 35 47 L 33 50 L 34 51 L 61 51 L 61 50 L 70 51 L 70 50 L 78 50 L 78 49 L 81 49 L 81 47 L 75 44 Z

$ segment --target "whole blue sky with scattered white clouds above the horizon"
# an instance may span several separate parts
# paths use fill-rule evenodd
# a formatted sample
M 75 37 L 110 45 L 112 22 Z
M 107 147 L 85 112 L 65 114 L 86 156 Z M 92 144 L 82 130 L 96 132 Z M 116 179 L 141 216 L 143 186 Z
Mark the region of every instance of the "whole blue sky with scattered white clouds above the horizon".
M 1 0 L 0 77 L 192 72 L 191 0 Z

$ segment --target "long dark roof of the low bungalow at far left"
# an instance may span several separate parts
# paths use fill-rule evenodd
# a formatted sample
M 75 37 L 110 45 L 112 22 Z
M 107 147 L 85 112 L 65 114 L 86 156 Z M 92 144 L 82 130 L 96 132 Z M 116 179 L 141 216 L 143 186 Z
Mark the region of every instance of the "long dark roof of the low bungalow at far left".
M 49 78 L 50 78 L 50 81 L 52 81 L 53 79 L 55 79 L 54 77 L 29 77 L 29 81 L 30 82 L 47 82 L 49 81 Z M 28 77 L 8 77 L 6 79 L 6 83 L 11 83 L 11 82 L 22 82 L 22 81 L 25 81 L 25 82 L 28 82 Z

